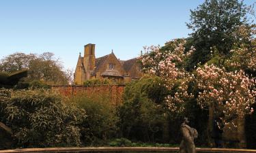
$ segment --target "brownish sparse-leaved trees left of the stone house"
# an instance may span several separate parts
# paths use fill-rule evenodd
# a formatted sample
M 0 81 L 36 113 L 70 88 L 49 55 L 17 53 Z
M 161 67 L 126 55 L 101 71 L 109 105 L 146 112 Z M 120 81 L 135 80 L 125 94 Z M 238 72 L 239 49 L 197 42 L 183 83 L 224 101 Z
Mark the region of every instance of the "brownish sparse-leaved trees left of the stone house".
M 63 85 L 71 82 L 70 73 L 63 71 L 60 61 L 54 58 L 51 52 L 40 55 L 16 52 L 1 59 L 0 71 L 12 73 L 22 69 L 29 70 L 26 82 L 38 80 L 49 85 Z

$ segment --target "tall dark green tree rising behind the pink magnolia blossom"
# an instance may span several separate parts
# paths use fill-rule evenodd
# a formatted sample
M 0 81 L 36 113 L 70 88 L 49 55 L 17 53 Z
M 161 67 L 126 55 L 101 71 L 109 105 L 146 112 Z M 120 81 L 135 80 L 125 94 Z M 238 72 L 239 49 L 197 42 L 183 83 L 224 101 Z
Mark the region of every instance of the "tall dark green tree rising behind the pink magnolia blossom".
M 228 55 L 233 44 L 240 40 L 236 31 L 242 25 L 248 25 L 248 7 L 239 0 L 205 0 L 190 12 L 187 26 L 193 30 L 190 44 L 196 48 L 190 69 L 199 62 L 207 62 L 212 47 L 216 47 L 220 54 Z

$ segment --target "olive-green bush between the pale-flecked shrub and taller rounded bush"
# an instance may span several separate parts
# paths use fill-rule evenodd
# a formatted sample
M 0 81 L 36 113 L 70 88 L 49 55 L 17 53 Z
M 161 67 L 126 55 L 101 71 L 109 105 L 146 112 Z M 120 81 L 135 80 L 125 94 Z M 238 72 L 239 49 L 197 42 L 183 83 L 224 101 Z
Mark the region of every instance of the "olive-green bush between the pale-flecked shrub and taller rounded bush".
M 68 99 L 79 108 L 85 109 L 87 118 L 79 125 L 81 127 L 81 141 L 86 146 L 97 146 L 113 139 L 118 134 L 116 126 L 119 118 L 115 112 L 115 105 L 107 94 L 84 95 L 79 94 Z

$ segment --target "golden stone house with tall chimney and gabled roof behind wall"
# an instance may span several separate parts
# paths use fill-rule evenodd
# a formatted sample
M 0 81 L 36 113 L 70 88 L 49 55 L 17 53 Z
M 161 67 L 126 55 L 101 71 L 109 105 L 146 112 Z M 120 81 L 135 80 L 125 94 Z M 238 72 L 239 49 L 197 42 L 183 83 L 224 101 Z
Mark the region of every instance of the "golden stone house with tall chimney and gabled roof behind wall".
M 137 58 L 120 61 L 113 50 L 111 54 L 96 58 L 95 44 L 87 44 L 84 48 L 84 56 L 79 54 L 74 84 L 83 85 L 86 80 L 93 79 L 107 79 L 122 84 L 137 80 L 142 75 Z

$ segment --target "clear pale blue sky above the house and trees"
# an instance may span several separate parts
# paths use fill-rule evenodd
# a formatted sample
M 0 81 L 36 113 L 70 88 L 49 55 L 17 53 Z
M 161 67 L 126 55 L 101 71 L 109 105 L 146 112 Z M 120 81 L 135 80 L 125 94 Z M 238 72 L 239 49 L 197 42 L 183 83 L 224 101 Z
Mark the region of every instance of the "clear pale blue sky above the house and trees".
M 254 0 L 246 0 L 247 4 Z M 75 68 L 83 46 L 96 44 L 96 57 L 113 52 L 122 60 L 143 46 L 187 37 L 190 9 L 203 0 L 1 0 L 0 58 L 14 52 L 53 52 Z

